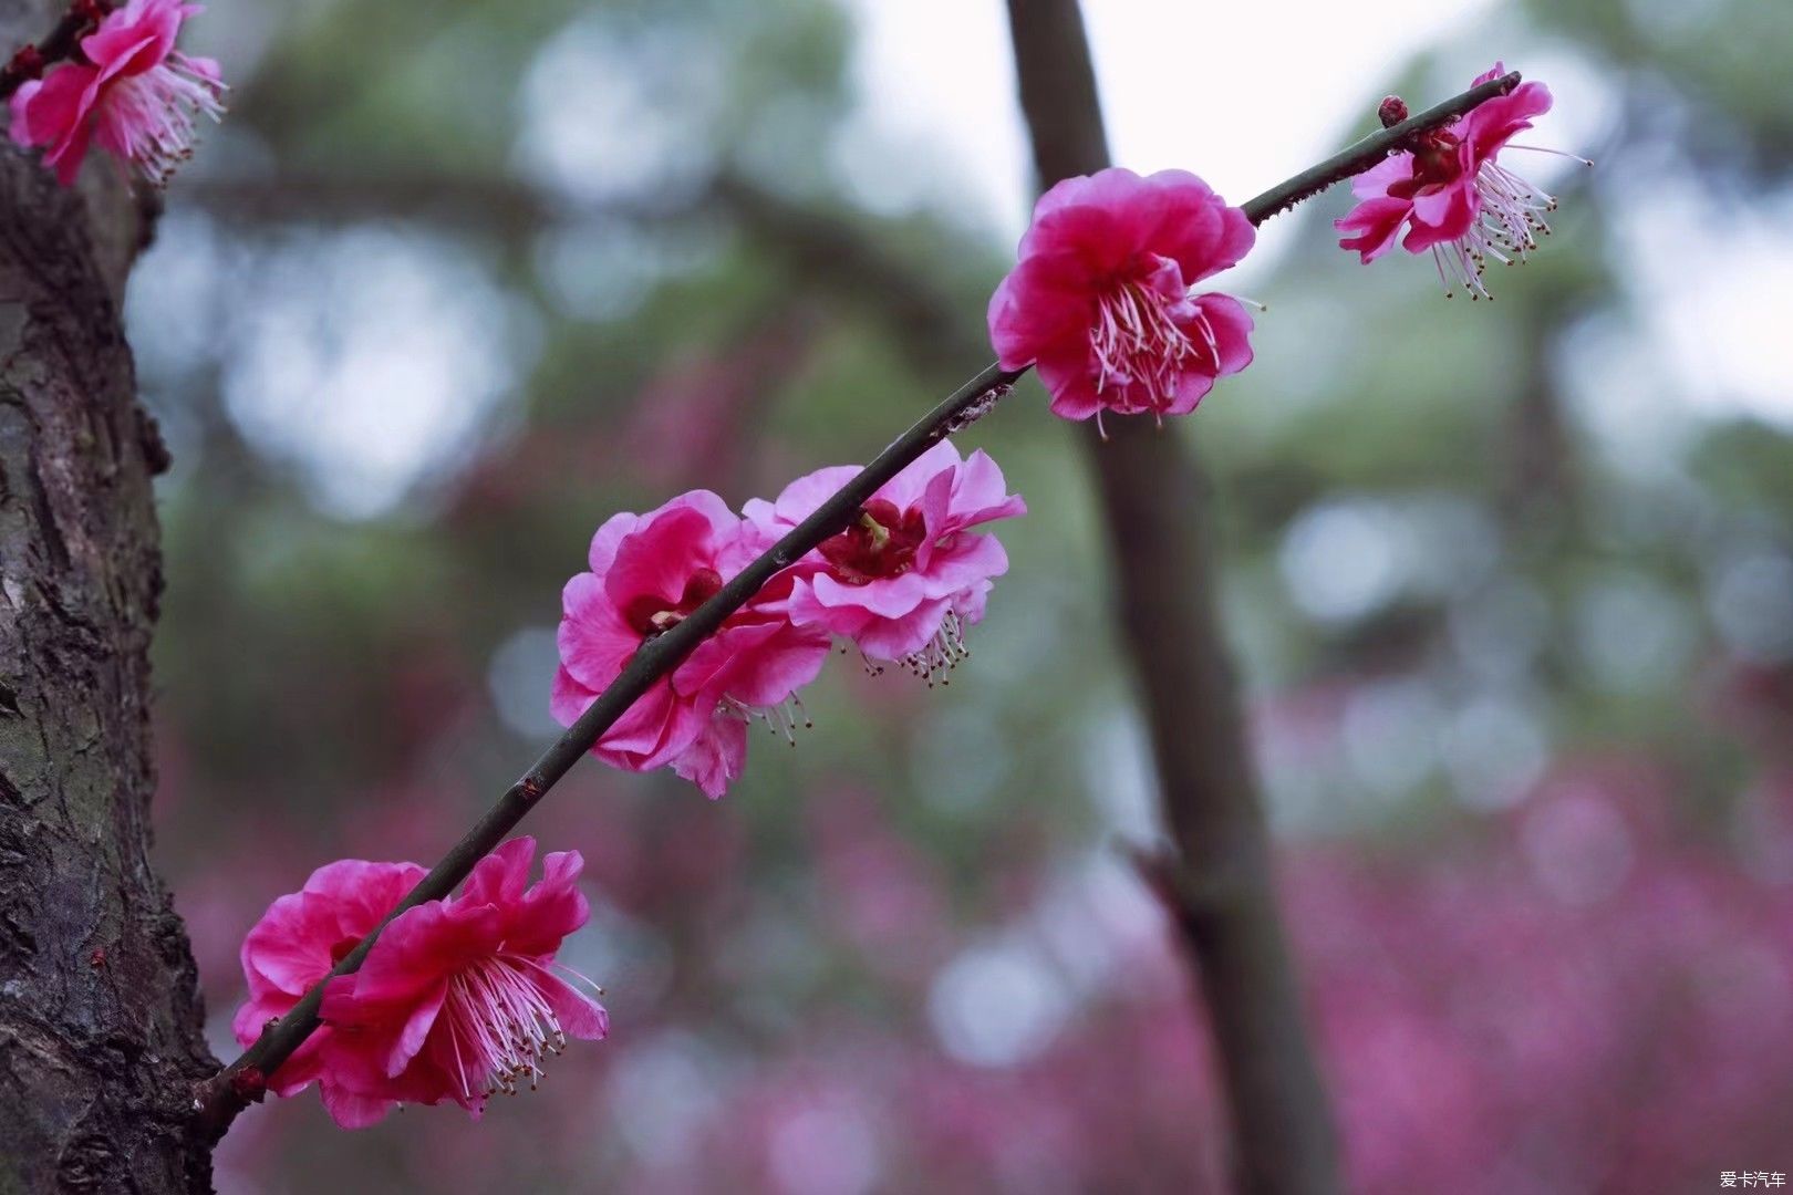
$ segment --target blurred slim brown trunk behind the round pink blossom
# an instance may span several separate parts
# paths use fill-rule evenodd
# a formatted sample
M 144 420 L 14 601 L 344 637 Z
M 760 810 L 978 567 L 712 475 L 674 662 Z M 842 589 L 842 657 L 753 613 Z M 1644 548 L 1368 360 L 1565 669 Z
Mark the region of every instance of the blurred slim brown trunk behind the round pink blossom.
M 1078 0 L 1009 0 L 1042 186 L 1108 165 Z M 1214 611 L 1207 482 L 1176 428 L 1085 428 L 1176 855 L 1158 865 L 1194 964 L 1252 1195 L 1338 1190 L 1338 1147 L 1277 910 L 1269 835 Z

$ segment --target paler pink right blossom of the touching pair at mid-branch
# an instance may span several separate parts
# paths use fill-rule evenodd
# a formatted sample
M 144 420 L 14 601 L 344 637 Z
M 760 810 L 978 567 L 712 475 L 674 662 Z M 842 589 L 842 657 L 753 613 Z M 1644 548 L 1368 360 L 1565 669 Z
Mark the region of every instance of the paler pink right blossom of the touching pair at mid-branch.
M 784 536 L 859 473 L 834 466 L 801 477 L 775 502 L 744 507 L 764 541 Z M 932 677 L 965 654 L 965 627 L 983 620 L 992 577 L 1008 572 L 995 536 L 972 527 L 1027 512 L 983 450 L 959 459 L 950 441 L 879 487 L 859 518 L 794 570 L 785 609 L 800 627 L 853 640 L 866 659 Z

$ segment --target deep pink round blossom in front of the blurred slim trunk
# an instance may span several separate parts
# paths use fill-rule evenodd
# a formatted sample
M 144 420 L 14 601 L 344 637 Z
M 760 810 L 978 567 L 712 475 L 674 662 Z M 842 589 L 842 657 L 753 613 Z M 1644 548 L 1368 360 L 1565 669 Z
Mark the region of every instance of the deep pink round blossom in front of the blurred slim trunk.
M 1040 197 L 1015 269 L 990 297 L 1004 369 L 1036 364 L 1067 419 L 1187 414 L 1252 364 L 1252 317 L 1191 287 L 1257 238 L 1239 208 L 1183 170 L 1101 170 Z

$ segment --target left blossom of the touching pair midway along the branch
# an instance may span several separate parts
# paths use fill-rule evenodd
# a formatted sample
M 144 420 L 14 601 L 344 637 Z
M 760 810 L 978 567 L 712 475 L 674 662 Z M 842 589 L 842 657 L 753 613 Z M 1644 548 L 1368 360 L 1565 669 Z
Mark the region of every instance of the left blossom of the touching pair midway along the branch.
M 703 489 L 599 527 L 592 572 L 568 580 L 561 595 L 554 717 L 572 726 L 642 643 L 714 597 L 757 545 L 755 529 Z M 796 627 L 782 609 L 793 584 L 791 575 L 775 577 L 629 706 L 592 754 L 633 772 L 671 765 L 721 797 L 746 765 L 748 720 L 789 731 L 796 715 L 787 702 L 828 658 L 827 631 Z

